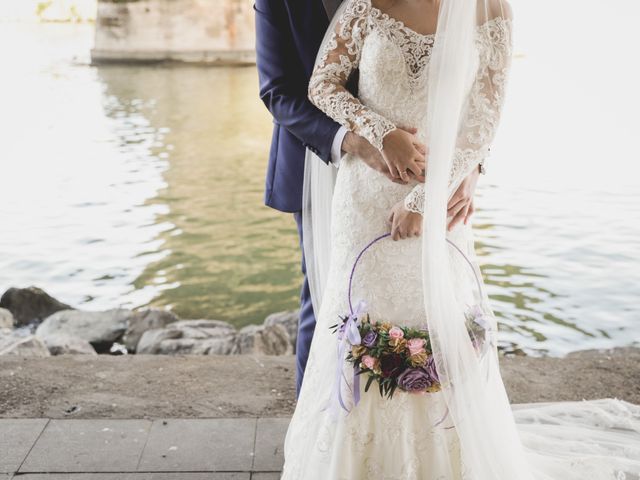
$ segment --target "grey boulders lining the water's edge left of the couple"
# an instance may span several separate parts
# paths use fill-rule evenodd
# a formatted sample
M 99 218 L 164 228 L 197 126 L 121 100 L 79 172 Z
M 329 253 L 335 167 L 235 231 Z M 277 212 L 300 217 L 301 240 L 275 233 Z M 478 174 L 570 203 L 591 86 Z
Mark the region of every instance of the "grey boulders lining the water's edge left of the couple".
M 282 312 L 238 330 L 154 308 L 78 310 L 37 287 L 10 288 L 0 298 L 0 356 L 287 355 L 295 351 L 297 323 L 297 312 Z

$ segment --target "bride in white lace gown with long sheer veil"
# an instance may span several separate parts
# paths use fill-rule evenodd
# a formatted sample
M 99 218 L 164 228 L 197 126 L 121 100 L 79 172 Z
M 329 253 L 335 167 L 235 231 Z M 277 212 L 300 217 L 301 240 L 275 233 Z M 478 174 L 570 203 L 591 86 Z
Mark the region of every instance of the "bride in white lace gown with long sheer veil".
M 311 101 L 378 148 L 399 177 L 420 173 L 426 144 L 426 183 L 391 183 L 349 157 L 336 171 L 307 153 L 305 253 L 318 323 L 283 479 L 640 478 L 638 407 L 511 408 L 471 228 L 446 228 L 448 198 L 489 153 L 511 37 L 503 0 L 346 0 L 336 14 Z M 345 87 L 356 69 L 357 98 Z M 482 353 L 466 326 L 472 305 L 483 312 Z M 371 322 L 428 331 L 439 391 L 365 390 L 330 328 L 365 311 Z

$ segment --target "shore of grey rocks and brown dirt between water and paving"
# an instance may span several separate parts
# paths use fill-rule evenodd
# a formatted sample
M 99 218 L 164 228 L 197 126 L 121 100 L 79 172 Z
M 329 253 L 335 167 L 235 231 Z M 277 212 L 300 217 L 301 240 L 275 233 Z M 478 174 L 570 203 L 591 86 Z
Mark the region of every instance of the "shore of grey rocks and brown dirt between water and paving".
M 11 288 L 0 299 L 0 417 L 290 415 L 296 327 L 297 312 L 238 330 L 158 309 L 82 311 L 36 287 Z M 501 368 L 513 403 L 640 404 L 637 348 L 509 356 Z

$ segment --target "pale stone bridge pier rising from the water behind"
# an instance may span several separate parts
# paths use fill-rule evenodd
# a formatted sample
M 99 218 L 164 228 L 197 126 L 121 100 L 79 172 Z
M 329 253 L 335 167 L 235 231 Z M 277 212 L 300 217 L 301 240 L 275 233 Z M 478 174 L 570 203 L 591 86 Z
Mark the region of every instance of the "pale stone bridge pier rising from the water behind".
M 251 64 L 252 0 L 99 0 L 95 63 Z

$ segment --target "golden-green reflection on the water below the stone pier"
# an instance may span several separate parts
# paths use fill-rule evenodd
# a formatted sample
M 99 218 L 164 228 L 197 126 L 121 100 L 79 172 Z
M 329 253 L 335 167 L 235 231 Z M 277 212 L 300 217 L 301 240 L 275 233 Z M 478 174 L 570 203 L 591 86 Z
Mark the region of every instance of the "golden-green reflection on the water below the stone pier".
M 256 100 L 254 69 L 100 67 L 107 117 L 122 145 L 161 132 L 149 156 L 165 159 L 157 232 L 133 283 L 154 305 L 186 318 L 257 322 L 295 305 L 293 219 L 262 205 L 271 122 Z M 145 118 L 136 127 L 130 119 Z M 179 288 L 178 288 L 179 287 Z

